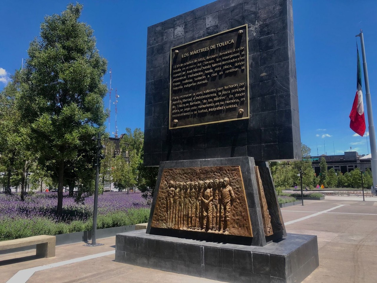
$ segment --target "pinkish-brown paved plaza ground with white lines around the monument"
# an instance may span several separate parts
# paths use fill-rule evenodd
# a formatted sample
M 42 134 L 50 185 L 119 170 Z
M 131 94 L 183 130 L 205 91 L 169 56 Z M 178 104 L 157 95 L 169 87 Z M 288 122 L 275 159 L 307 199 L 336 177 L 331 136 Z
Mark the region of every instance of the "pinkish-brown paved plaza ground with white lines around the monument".
M 320 266 L 304 283 L 376 282 L 377 198 L 366 200 L 329 196 L 282 208 L 287 232 L 318 236 Z M 0 283 L 216 282 L 117 263 L 115 237 L 98 242 L 57 246 L 52 258 L 36 258 L 35 250 L 0 255 Z

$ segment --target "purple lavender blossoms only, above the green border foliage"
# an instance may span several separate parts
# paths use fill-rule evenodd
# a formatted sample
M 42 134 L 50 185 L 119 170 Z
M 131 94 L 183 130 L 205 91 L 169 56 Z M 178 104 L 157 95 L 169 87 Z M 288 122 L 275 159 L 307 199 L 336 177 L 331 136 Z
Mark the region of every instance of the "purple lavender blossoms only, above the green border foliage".
M 21 201 L 19 195 L 0 194 L 0 220 L 47 218 L 56 222 L 69 223 L 74 220 L 86 221 L 93 213 L 93 196 L 86 197 L 83 203 L 76 203 L 74 198 L 64 195 L 63 215 L 57 216 L 57 193 L 36 193 Z M 126 212 L 127 209 L 150 208 L 141 193 L 105 192 L 98 196 L 98 214 Z

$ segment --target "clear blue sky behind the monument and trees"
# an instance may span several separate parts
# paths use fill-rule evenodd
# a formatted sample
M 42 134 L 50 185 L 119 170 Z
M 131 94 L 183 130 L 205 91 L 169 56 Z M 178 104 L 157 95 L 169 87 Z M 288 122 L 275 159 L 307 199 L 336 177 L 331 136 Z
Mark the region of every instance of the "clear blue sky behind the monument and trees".
M 112 68 L 112 100 L 118 89 L 118 132 L 144 129 L 147 27 L 210 0 L 81 0 L 80 20 L 94 29 L 97 48 Z M 45 15 L 60 14 L 67 1 L 4 0 L 0 5 L 0 90 L 21 66 Z M 301 140 L 312 155 L 356 150 L 370 153 L 366 137 L 354 137 L 349 112 L 356 93 L 356 38 L 364 32 L 374 120 L 377 117 L 377 2 L 293 0 Z M 358 43 L 360 41 L 358 40 Z M 360 44 L 360 43 L 359 43 Z M 360 45 L 359 45 L 360 46 Z M 360 51 L 361 56 L 361 51 Z M 362 58 L 360 58 L 362 60 Z M 6 72 L 6 74 L 5 74 Z M 109 74 L 104 82 L 109 83 Z M 363 93 L 365 85 L 363 81 Z M 109 105 L 108 96 L 104 100 Z M 364 97 L 364 109 L 366 111 Z M 366 115 L 365 115 L 366 116 Z M 114 105 L 110 131 L 115 131 Z M 367 122 L 368 123 L 368 122 Z M 107 124 L 106 124 L 107 125 Z M 368 127 L 368 125 L 367 125 Z M 368 131 L 368 128 L 367 128 Z M 369 144 L 369 137 L 368 137 Z M 326 151 L 325 151 L 326 148 Z

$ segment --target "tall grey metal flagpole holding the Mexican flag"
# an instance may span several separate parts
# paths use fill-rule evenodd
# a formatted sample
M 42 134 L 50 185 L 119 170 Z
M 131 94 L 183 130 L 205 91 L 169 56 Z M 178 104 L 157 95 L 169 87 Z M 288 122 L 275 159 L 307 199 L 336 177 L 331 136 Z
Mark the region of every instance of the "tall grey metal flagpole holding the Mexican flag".
M 369 129 L 369 142 L 371 145 L 371 165 L 372 165 L 372 176 L 373 176 L 373 188 L 377 185 L 377 150 L 376 150 L 376 137 L 374 133 L 374 123 L 373 123 L 373 112 L 372 112 L 372 101 L 371 92 L 369 90 L 369 79 L 368 79 L 368 69 L 366 67 L 365 58 L 365 47 L 364 47 L 364 35 L 363 31 L 360 29 L 360 33 L 356 35 L 360 37 L 361 42 L 361 52 L 363 54 L 363 69 L 364 69 L 364 81 L 365 81 L 365 97 L 366 97 L 366 109 L 368 111 L 368 129 Z

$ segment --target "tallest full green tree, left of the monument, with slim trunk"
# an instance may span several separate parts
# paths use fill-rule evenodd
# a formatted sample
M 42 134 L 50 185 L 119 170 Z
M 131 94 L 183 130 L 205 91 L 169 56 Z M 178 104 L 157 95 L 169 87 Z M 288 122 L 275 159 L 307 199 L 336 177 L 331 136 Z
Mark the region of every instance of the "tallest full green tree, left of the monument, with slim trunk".
M 98 53 L 92 28 L 78 20 L 82 9 L 69 4 L 61 15 L 44 18 L 19 82 L 18 109 L 31 125 L 38 162 L 58 179 L 59 213 L 66 167 L 80 156 L 83 144 L 104 130 L 106 119 L 102 78 L 107 62 Z

